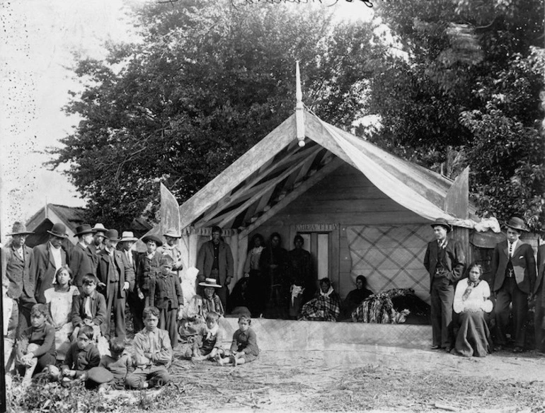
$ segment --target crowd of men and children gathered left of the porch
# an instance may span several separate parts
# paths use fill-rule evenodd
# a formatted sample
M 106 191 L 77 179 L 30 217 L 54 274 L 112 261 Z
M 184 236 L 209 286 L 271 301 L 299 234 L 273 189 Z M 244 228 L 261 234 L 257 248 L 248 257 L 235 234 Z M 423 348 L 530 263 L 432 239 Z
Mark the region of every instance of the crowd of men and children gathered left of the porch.
M 181 312 L 176 231 L 164 234 L 165 243 L 156 235 L 144 237 L 147 250 L 141 254 L 133 249 L 137 238 L 130 231 L 119 237 L 100 223 L 78 226 L 76 245 L 62 223 L 47 232 L 47 243 L 31 249 L 25 240 L 32 232 L 15 223 L 10 243 L 1 249 L 4 359 L 8 370 L 25 372 L 23 383 L 43 373 L 63 385 L 85 380 L 101 389 L 160 385 L 168 382 L 179 340 L 191 342 L 190 356 L 220 364 L 258 356 L 249 314 L 239 319 L 231 349 L 223 349 L 218 277 L 200 282 L 202 296 L 191 298 Z M 126 303 L 135 333 L 132 355 L 125 351 Z M 184 335 L 187 322 L 193 326 L 190 337 Z

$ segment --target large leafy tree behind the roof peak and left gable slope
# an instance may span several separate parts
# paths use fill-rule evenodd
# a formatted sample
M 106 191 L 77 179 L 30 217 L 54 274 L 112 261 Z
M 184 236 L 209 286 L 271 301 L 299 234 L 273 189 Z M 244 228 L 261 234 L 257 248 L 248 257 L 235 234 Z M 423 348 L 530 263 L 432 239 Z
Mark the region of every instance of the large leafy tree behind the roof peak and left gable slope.
M 305 103 L 323 119 L 350 124 L 365 110 L 376 49 L 367 23 L 228 0 L 154 3 L 135 17 L 141 40 L 79 60 L 86 87 L 67 112 L 82 120 L 54 161 L 70 163 L 95 220 L 153 218 L 159 182 L 188 199 L 292 115 L 296 60 Z

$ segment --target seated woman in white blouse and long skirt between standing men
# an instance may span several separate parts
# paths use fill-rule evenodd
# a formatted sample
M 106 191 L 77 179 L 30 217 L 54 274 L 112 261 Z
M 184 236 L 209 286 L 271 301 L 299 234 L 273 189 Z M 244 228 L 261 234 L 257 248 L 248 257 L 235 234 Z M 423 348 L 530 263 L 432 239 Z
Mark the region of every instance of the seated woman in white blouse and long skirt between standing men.
M 484 357 L 492 349 L 490 330 L 484 313 L 492 311 L 490 286 L 481 279 L 480 264 L 469 267 L 469 277 L 461 279 L 454 292 L 454 312 L 459 313 L 460 329 L 454 350 L 461 356 Z

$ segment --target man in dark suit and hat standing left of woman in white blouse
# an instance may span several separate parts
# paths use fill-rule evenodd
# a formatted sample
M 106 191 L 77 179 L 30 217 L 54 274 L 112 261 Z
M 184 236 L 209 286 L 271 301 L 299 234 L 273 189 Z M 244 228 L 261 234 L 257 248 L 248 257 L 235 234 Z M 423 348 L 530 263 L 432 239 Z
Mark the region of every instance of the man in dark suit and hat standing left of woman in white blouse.
M 431 226 L 436 239 L 428 243 L 424 267 L 430 274 L 432 349 L 450 351 L 454 345 L 452 331 L 454 284 L 464 274 L 466 257 L 460 243 L 447 238 L 452 226 L 446 219 L 438 218 Z

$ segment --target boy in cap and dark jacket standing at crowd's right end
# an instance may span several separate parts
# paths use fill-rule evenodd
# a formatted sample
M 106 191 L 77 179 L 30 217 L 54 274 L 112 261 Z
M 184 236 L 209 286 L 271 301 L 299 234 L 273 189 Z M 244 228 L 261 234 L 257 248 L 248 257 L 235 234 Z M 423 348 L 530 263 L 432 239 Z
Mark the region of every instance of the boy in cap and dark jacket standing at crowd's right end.
M 178 275 L 172 272 L 172 257 L 163 255 L 160 264 L 161 273 L 149 280 L 146 306 L 159 308 L 159 328 L 168 331 L 174 348 L 178 344 L 178 308 L 183 306 L 183 293 Z

